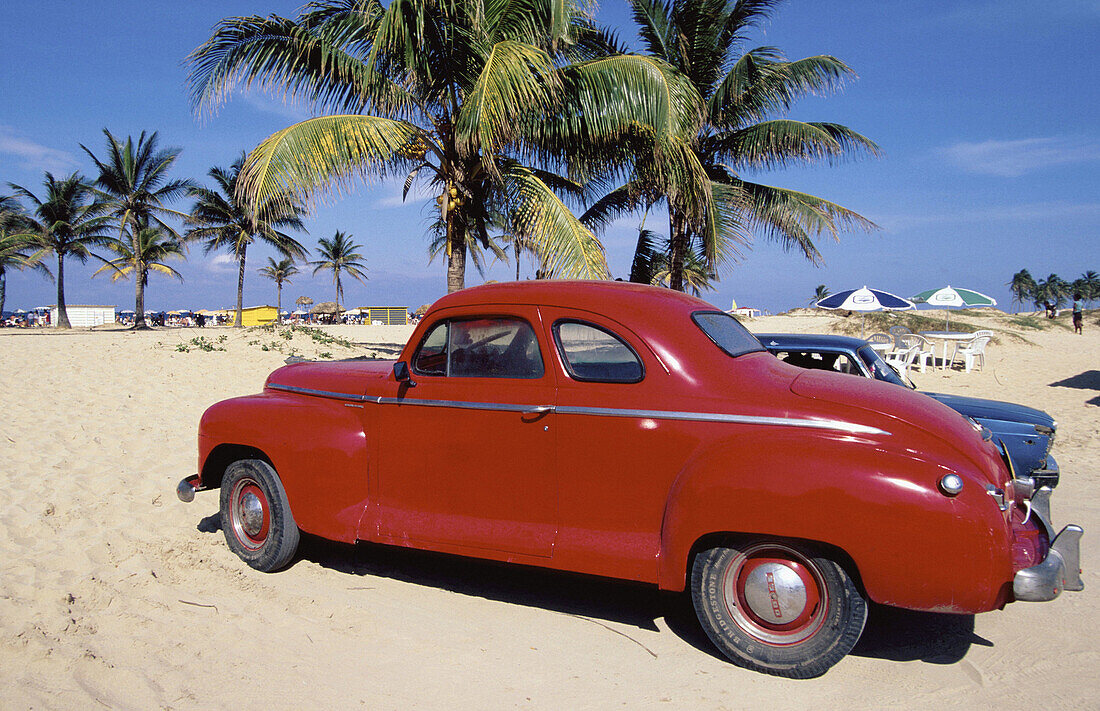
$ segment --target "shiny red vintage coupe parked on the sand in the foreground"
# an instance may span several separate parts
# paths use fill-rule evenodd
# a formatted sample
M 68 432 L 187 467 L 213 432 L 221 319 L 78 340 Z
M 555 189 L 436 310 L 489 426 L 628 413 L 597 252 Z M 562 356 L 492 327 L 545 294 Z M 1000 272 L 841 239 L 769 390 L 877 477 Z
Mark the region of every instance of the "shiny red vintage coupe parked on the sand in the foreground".
M 306 436 L 304 436 L 304 434 Z M 734 663 L 823 674 L 875 601 L 977 613 L 1080 590 L 1081 528 L 941 403 L 780 362 L 649 286 L 486 285 L 394 361 L 304 362 L 199 425 L 229 547 L 299 532 L 688 590 Z

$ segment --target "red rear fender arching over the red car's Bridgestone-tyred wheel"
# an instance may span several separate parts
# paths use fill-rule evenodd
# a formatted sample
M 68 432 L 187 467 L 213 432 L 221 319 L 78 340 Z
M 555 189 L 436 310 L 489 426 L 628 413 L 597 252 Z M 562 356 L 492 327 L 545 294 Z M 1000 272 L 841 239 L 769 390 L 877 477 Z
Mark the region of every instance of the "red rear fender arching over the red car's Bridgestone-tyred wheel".
M 882 604 L 999 608 L 1012 580 L 1009 527 L 977 478 L 957 497 L 941 493 L 948 471 L 887 439 L 769 431 L 722 442 L 695 457 L 670 492 L 659 583 L 682 590 L 696 544 L 714 534 L 768 536 L 844 551 Z

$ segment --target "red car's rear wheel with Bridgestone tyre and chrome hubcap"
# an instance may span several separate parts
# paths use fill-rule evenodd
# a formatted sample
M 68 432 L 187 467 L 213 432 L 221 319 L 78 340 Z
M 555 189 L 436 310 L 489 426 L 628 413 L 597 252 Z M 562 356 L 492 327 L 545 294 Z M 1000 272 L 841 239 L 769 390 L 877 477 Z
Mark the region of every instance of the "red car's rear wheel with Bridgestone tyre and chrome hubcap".
M 847 571 L 802 544 L 751 540 L 700 551 L 691 592 L 724 655 L 782 677 L 825 674 L 867 622 L 867 601 Z

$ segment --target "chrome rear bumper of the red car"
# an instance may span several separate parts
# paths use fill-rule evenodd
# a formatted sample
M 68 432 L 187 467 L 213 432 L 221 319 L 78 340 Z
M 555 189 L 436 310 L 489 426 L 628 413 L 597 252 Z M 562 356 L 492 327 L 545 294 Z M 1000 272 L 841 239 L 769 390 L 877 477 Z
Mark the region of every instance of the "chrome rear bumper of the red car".
M 1070 524 L 1057 534 L 1054 533 L 1050 524 L 1050 493 L 1049 486 L 1043 486 L 1031 499 L 1031 515 L 1046 530 L 1050 548 L 1043 562 L 1016 572 L 1012 580 L 1012 592 L 1016 600 L 1045 602 L 1057 598 L 1063 590 L 1085 589 L 1080 564 L 1080 542 L 1085 529 Z

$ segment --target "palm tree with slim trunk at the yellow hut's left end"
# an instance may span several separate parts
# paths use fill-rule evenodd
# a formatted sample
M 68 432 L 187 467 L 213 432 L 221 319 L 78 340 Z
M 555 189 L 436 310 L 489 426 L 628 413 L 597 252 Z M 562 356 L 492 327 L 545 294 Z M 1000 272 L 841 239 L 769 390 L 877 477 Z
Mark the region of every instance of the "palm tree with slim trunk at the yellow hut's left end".
M 261 203 L 255 207 L 241 197 L 240 176 L 244 154 L 229 167 L 210 168 L 208 175 L 217 184 L 216 189 L 201 186 L 188 189 L 195 205 L 187 220 L 194 227 L 187 231 L 187 239 L 204 242 L 204 250 L 210 253 L 227 249 L 237 260 L 237 321 L 242 327 L 244 311 L 244 261 L 249 245 L 256 239 L 274 247 L 280 254 L 293 259 L 304 259 L 306 248 L 279 229 L 306 231 L 301 222 L 305 208 L 294 199 L 283 198 Z

